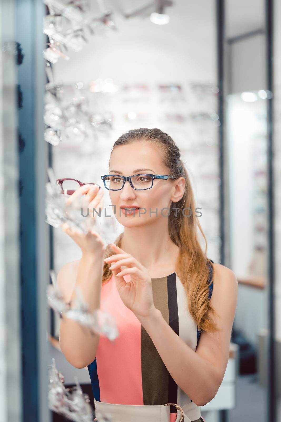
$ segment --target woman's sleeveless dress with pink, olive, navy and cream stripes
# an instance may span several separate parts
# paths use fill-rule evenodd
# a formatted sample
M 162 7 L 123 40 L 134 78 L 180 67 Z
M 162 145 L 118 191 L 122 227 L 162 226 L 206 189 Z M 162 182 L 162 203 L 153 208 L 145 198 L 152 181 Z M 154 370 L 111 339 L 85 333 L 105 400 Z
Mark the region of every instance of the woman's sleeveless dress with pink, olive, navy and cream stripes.
M 209 269 L 211 281 L 211 266 Z M 129 281 L 130 275 L 124 278 Z M 155 307 L 175 333 L 195 351 L 200 333 L 187 311 L 185 288 L 177 274 L 152 279 L 152 289 Z M 209 298 L 212 289 L 213 282 L 209 286 Z M 203 421 L 202 417 L 198 419 L 200 407 L 175 383 L 150 336 L 133 312 L 123 304 L 113 274 L 102 286 L 101 309 L 115 317 L 119 337 L 111 342 L 100 336 L 95 360 L 88 365 L 94 398 L 126 405 L 177 403 L 191 421 Z M 174 422 L 177 411 L 174 406 L 170 409 L 170 422 Z

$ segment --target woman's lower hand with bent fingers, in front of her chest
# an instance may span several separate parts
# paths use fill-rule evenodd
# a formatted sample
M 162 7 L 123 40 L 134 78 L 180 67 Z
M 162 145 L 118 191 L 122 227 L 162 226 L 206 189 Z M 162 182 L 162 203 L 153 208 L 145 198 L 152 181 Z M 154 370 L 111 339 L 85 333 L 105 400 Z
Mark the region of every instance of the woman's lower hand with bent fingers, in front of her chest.
M 116 255 L 111 255 L 104 261 L 113 263 L 112 271 L 116 287 L 122 302 L 129 308 L 136 317 L 149 317 L 155 311 L 151 277 L 147 269 L 140 264 L 131 254 L 126 254 L 121 248 L 111 243 Z M 122 271 L 121 266 L 125 266 Z M 130 274 L 131 280 L 126 282 L 123 276 Z

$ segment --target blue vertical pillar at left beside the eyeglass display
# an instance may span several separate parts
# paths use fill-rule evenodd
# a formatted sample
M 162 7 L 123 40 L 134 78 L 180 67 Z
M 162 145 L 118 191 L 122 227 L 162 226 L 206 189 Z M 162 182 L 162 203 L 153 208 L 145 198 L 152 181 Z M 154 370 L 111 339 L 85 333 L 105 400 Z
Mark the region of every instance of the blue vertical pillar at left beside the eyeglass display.
M 38 158 L 44 160 L 43 92 L 44 67 L 42 51 L 43 1 L 16 0 L 16 40 L 20 43 L 23 60 L 18 66 L 18 135 L 19 135 L 19 198 L 20 198 L 20 259 L 21 259 L 21 345 L 23 422 L 47 421 L 42 414 L 47 402 L 47 366 L 45 373 L 41 356 L 42 338 L 40 313 L 46 313 L 41 300 L 38 267 L 42 267 L 45 251 L 38 231 L 44 222 L 44 181 L 38 169 Z M 38 41 L 39 40 L 39 41 Z M 39 173 L 38 173 L 39 171 Z M 41 167 L 44 174 L 44 166 Z M 38 183 L 41 189 L 38 189 Z M 41 204 L 41 205 L 40 205 Z M 40 214 L 38 213 L 40 208 Z M 47 257 L 45 257 L 47 260 Z M 43 286 L 43 289 L 45 287 Z M 42 328 L 46 342 L 46 329 Z M 42 374 L 45 379 L 45 404 L 42 401 Z M 47 410 L 47 409 L 46 409 Z

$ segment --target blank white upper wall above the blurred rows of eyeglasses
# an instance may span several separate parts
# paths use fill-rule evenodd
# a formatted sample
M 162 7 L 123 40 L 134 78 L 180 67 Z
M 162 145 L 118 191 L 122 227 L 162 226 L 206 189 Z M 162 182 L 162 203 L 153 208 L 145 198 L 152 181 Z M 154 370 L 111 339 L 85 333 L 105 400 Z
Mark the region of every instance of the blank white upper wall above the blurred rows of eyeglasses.
M 118 2 L 124 10 L 138 1 Z M 115 2 L 107 2 L 114 10 Z M 126 7 L 127 6 L 127 7 Z M 95 78 L 119 82 L 216 81 L 216 27 L 214 0 L 177 0 L 167 8 L 170 22 L 155 25 L 149 18 L 124 19 L 114 15 L 117 32 L 92 36 L 80 52 L 68 51 L 69 61 L 54 65 L 56 82 L 85 83 Z

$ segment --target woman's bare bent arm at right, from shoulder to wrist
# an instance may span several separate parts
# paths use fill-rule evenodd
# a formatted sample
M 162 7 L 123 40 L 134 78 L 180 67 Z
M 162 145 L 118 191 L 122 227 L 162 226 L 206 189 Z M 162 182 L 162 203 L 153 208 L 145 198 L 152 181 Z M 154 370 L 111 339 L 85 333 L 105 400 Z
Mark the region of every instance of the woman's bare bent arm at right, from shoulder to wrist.
M 214 264 L 210 301 L 219 315 L 213 317 L 213 321 L 222 331 L 202 331 L 196 352 L 179 338 L 158 309 L 150 317 L 139 317 L 172 378 L 198 406 L 209 403 L 222 383 L 229 357 L 237 294 L 238 282 L 233 271 Z

